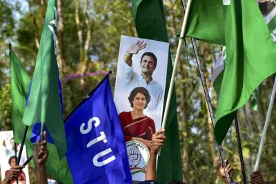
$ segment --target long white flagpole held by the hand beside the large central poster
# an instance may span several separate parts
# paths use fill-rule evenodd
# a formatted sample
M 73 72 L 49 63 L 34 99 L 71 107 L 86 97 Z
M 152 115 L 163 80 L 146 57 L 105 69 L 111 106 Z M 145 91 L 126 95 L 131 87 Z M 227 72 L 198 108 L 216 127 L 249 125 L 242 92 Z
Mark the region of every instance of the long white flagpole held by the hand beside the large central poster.
M 170 108 L 170 98 L 172 97 L 173 84 L 174 84 L 174 80 L 175 80 L 175 75 L 177 73 L 177 64 L 178 64 L 178 60 L 179 60 L 181 46 L 182 46 L 183 39 L 184 39 L 184 34 L 185 34 L 185 30 L 186 30 L 186 25 L 187 25 L 187 21 L 188 21 L 188 15 L 190 12 L 191 3 L 192 3 L 192 0 L 188 0 L 187 10 L 186 10 L 186 13 L 184 16 L 184 21 L 183 21 L 181 33 L 180 33 L 180 39 L 179 39 L 178 46 L 177 46 L 177 55 L 175 56 L 175 62 L 173 65 L 172 77 L 170 78 L 170 88 L 168 89 L 168 97 L 167 97 L 167 102 L 166 102 L 166 107 L 165 107 L 165 112 L 164 112 L 164 116 L 163 116 L 161 129 L 166 128 L 166 121 L 168 118 L 168 110 Z M 158 156 L 160 155 L 160 152 L 161 152 L 161 148 L 158 151 Z

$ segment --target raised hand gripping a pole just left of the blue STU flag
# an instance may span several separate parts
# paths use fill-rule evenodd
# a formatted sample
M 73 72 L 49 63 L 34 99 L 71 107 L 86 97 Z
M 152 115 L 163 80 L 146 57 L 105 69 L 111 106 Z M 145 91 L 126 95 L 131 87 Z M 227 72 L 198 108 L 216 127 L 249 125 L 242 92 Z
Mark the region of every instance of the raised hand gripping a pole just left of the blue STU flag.
M 39 142 L 37 140 L 37 147 L 34 149 L 34 151 L 32 151 L 32 156 L 36 167 L 44 166 L 46 164 L 46 160 L 49 155 L 46 138 L 47 138 L 47 134 L 46 134 L 46 131 L 44 131 L 43 141 Z

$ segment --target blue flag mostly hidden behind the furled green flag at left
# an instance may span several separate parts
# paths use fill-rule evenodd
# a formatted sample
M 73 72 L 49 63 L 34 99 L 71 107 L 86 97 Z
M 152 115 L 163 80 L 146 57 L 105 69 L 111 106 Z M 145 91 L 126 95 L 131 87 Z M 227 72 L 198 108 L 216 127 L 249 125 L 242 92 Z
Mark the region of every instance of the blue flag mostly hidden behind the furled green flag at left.
M 58 84 L 59 84 L 59 102 L 61 103 L 61 112 L 63 114 L 62 90 L 61 90 L 61 82 L 59 80 L 59 67 L 58 66 L 57 66 L 57 77 L 58 77 Z M 32 86 L 32 80 L 30 81 L 30 88 L 29 88 L 29 93 L 28 93 L 27 100 L 26 100 L 26 106 L 28 104 L 31 86 Z M 37 142 L 37 140 L 40 141 L 40 130 L 41 130 L 41 122 L 38 122 L 33 125 L 32 134 L 30 135 L 30 142 L 35 143 L 35 142 Z M 50 142 L 55 145 L 55 142 L 54 142 L 54 140 L 52 140 L 52 137 L 45 125 L 44 125 L 44 131 L 47 132 L 47 142 Z

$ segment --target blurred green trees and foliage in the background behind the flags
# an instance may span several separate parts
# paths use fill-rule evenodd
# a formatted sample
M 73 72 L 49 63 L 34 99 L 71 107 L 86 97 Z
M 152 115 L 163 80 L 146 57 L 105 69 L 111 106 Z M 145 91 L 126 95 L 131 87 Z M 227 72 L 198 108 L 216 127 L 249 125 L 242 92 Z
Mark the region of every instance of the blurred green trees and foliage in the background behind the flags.
M 60 66 L 61 79 L 72 74 L 95 73 L 99 71 L 116 71 L 119 40 L 121 35 L 137 36 L 132 20 L 131 3 L 125 0 L 88 1 L 87 11 L 83 12 L 86 0 L 79 0 L 79 29 L 76 22 L 76 2 L 58 0 L 62 4 L 63 25 L 57 26 L 57 38 L 60 52 L 58 58 L 63 59 Z M 14 2 L 14 1 L 12 1 Z M 0 129 L 11 129 L 11 97 L 10 97 L 10 61 L 8 59 L 8 42 L 13 47 L 23 65 L 32 74 L 37 59 L 37 51 L 41 30 L 46 12 L 46 1 L 0 1 Z M 43 2 L 43 3 L 42 3 Z M 25 6 L 22 6 L 22 5 Z M 27 7 L 26 7 L 27 5 Z M 168 35 L 172 59 L 177 49 L 177 33 L 181 30 L 184 10 L 181 1 L 164 1 Z M 14 15 L 20 16 L 14 16 Z M 86 22 L 90 21 L 90 28 Z M 61 29 L 62 28 L 62 29 Z M 78 31 L 81 30 L 81 39 Z M 88 30 L 90 42 L 87 53 L 85 44 Z M 82 44 L 80 44 L 80 41 Z M 222 183 L 218 175 L 219 152 L 213 138 L 213 125 L 208 116 L 204 91 L 197 70 L 197 62 L 190 39 L 182 48 L 175 86 L 177 91 L 177 113 L 179 118 L 179 134 L 183 158 L 183 176 L 186 183 Z M 197 42 L 199 56 L 204 68 L 206 83 L 209 87 L 213 109 L 217 106 L 217 97 L 210 78 L 215 59 L 220 47 L 213 44 Z M 188 51 L 188 52 L 187 52 Z M 85 57 L 88 61 L 85 62 Z M 62 83 L 63 106 L 65 116 L 74 109 L 80 100 L 101 80 L 103 75 L 74 78 Z M 269 97 L 273 86 L 273 78 L 266 80 L 259 88 L 259 111 L 250 109 L 246 104 L 239 110 L 239 125 L 246 163 L 247 181 L 254 169 Z M 110 77 L 112 89 L 115 77 Z M 273 109 L 275 109 L 274 105 Z M 264 178 L 276 183 L 276 111 L 270 118 L 270 126 L 261 160 L 260 170 Z M 237 149 L 235 127 L 231 127 L 224 141 L 226 158 L 235 168 L 235 181 L 242 182 L 241 167 Z M 31 181 L 35 183 L 34 171 Z

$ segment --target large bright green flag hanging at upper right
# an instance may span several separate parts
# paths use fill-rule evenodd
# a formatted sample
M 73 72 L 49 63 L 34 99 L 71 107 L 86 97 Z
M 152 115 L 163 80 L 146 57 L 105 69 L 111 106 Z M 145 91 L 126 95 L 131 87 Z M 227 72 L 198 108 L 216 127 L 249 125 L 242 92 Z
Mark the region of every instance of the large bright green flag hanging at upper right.
M 276 72 L 276 46 L 256 1 L 193 0 L 187 36 L 226 46 L 215 138 L 219 145 L 237 110 Z

